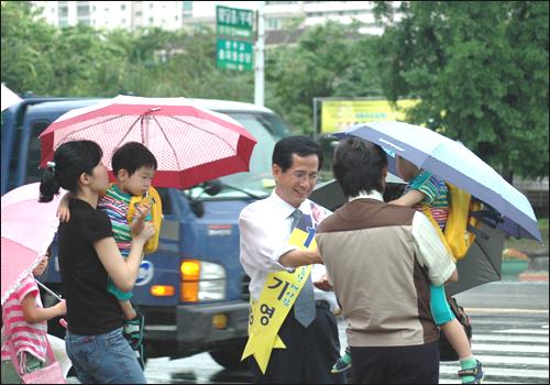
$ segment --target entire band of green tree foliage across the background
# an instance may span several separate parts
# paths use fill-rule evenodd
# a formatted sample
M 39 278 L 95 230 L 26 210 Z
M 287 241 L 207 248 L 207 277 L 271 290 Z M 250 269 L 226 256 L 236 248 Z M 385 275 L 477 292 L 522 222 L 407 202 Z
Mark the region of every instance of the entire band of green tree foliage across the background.
M 503 175 L 548 176 L 548 2 L 386 1 L 382 36 L 327 23 L 265 54 L 266 106 L 314 133 L 320 97 L 418 98 L 411 123 L 460 139 Z M 28 1 L 1 2 L 2 81 L 35 95 L 253 101 L 254 74 L 216 68 L 216 34 L 56 29 Z M 393 21 L 398 20 L 392 24 Z M 300 20 L 287 28 L 297 30 Z

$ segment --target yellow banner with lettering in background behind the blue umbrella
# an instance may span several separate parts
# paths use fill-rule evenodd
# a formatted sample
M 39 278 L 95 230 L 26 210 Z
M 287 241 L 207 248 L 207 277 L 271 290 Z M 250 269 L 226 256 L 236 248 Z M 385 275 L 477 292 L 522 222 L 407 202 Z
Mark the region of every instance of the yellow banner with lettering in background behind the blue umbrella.
M 415 99 L 398 100 L 394 109 L 387 100 L 323 100 L 321 133 L 338 132 L 358 123 L 405 121 L 406 110 L 417 102 Z

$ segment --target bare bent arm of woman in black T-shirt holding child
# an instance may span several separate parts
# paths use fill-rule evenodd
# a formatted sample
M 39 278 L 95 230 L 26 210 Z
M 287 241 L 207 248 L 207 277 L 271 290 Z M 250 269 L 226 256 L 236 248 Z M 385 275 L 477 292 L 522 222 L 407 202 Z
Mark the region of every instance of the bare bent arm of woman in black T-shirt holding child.
M 155 234 L 153 223 L 143 223 L 142 231 L 132 239 L 132 249 L 124 260 L 120 254 L 114 238 L 103 238 L 94 242 L 94 249 L 112 282 L 122 292 L 130 292 L 134 286 L 143 256 L 143 245 Z

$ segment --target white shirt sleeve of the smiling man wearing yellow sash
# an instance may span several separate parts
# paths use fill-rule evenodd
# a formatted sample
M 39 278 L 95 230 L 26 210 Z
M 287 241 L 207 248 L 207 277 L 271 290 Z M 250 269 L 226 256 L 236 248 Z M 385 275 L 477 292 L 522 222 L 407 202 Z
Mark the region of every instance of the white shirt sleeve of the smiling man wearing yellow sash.
M 246 273 L 264 272 L 294 272 L 293 267 L 285 267 L 279 262 L 280 255 L 296 249 L 288 244 L 280 244 L 273 239 L 272 227 L 261 220 L 261 216 L 252 208 L 245 208 L 239 218 L 241 237 L 241 264 Z M 280 223 L 275 223 L 280 226 Z

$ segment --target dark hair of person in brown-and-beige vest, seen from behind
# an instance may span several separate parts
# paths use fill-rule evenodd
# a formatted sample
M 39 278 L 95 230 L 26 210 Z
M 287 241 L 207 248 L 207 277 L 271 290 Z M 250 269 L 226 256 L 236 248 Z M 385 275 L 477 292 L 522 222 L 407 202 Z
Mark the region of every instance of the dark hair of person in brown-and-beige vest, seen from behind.
M 348 198 L 356 197 L 360 191 L 383 194 L 383 170 L 386 167 L 384 150 L 359 138 L 342 139 L 334 151 L 332 172 Z

